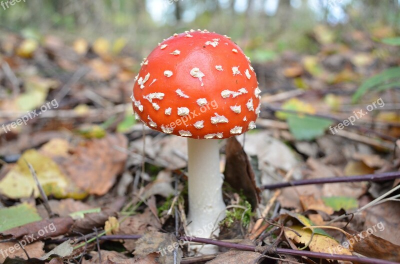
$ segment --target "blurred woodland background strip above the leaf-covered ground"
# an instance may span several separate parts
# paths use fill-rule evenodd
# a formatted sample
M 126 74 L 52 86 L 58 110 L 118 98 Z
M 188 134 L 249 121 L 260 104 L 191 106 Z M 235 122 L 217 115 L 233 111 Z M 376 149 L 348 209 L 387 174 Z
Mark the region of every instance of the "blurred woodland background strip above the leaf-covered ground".
M 400 1 L 26 0 L 0 8 L 0 25 L 7 30 L 70 40 L 122 37 L 137 56 L 147 54 L 160 37 L 190 28 L 227 34 L 256 60 L 285 49 L 312 54 L 317 49 L 310 34 L 320 23 L 337 30 L 389 28 L 395 34 L 400 31 Z

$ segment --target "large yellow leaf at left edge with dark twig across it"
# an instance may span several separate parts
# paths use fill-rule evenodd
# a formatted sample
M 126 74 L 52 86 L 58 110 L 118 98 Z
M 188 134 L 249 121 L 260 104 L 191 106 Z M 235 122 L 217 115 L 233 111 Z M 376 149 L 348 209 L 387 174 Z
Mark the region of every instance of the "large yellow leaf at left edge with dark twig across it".
M 34 149 L 25 151 L 15 166 L 0 181 L 1 194 L 12 199 L 26 198 L 32 194 L 35 198 L 39 197 L 39 191 L 26 162 L 33 166 L 46 195 L 74 199 L 82 199 L 85 196 L 66 178 L 52 159 Z

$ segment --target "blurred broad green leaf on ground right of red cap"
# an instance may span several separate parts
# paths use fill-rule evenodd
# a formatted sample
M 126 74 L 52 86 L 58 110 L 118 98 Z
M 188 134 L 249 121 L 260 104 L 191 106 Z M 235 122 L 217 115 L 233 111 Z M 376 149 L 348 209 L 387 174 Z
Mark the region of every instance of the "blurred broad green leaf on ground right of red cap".
M 296 140 L 313 140 L 322 136 L 332 121 L 321 117 L 290 114 L 287 116 L 287 124 Z

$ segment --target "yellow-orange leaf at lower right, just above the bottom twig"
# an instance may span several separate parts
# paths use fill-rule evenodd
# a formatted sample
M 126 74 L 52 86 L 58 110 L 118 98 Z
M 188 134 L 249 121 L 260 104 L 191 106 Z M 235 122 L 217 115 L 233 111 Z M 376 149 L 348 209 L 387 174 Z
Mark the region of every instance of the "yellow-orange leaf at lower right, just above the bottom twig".
M 332 238 L 318 234 L 314 234 L 312 236 L 312 231 L 308 229 L 302 230 L 300 226 L 292 226 L 290 228 L 297 232 L 301 237 L 297 236 L 294 232 L 290 230 L 284 229 L 284 234 L 286 238 L 293 240 L 297 244 L 308 245 L 309 250 L 312 252 L 351 256 L 350 250 L 343 248 L 337 241 Z

